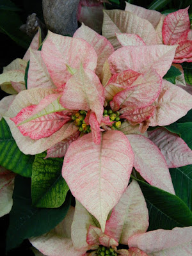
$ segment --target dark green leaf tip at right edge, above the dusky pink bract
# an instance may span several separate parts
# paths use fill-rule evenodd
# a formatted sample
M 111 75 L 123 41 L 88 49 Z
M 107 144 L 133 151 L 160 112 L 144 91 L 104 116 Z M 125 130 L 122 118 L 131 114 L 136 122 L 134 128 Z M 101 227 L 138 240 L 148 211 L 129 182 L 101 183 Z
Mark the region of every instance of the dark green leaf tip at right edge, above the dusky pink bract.
M 164 128 L 178 134 L 188 144 L 188 147 L 192 149 L 192 122 L 173 123 Z

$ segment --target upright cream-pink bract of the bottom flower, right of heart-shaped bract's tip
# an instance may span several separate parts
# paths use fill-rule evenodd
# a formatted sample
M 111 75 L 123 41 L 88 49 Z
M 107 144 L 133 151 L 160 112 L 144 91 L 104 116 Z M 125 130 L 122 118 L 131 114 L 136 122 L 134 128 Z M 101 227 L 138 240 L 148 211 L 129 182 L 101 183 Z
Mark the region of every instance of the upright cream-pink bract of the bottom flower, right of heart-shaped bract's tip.
M 105 233 L 120 244 L 127 244 L 129 237 L 146 232 L 148 209 L 145 198 L 136 180 L 125 189 L 106 223 Z

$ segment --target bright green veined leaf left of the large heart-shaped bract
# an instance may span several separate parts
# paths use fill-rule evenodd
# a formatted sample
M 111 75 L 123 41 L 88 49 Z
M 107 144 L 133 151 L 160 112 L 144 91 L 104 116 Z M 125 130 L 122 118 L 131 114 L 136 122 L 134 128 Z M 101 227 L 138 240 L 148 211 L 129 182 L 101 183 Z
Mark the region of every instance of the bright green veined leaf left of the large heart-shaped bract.
M 33 163 L 31 196 L 36 207 L 60 207 L 65 201 L 68 186 L 61 175 L 62 158 L 47 158 L 37 154 Z

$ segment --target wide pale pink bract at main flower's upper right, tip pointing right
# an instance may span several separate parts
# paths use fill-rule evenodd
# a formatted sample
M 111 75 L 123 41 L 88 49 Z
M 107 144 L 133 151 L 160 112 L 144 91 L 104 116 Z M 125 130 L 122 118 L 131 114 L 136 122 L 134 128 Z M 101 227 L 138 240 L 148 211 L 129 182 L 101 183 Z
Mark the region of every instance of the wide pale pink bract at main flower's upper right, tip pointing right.
M 154 68 L 163 77 L 172 65 L 176 48 L 175 45 L 124 46 L 108 58 L 109 67 L 112 74 L 128 69 L 143 73 Z

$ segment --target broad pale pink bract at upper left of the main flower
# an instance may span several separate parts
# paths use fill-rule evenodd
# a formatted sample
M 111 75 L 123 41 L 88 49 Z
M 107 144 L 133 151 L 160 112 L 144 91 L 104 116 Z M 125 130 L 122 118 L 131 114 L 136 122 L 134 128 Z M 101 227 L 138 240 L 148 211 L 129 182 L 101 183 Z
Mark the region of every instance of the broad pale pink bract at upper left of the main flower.
M 93 71 L 97 67 L 97 54 L 92 45 L 81 38 L 56 35 L 51 31 L 48 32 L 41 54 L 52 81 L 60 90 L 72 77 L 67 66 L 78 69 L 82 64 L 83 68 Z

